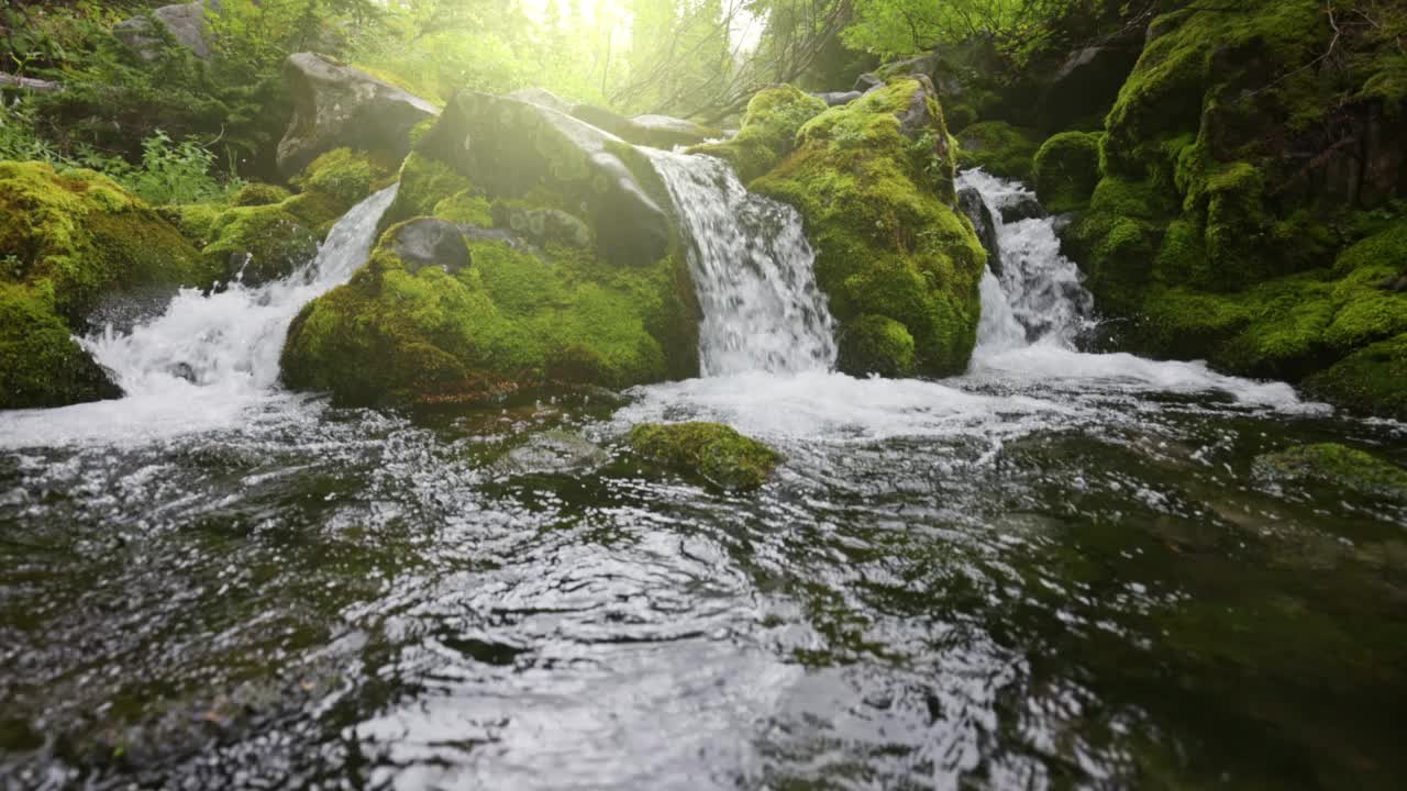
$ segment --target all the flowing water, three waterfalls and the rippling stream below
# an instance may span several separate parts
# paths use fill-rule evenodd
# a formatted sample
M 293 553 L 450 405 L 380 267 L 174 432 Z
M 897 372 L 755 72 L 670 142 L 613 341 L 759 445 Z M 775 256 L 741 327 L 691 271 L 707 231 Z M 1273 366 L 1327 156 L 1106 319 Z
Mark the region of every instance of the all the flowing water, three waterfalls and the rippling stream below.
M 0 785 L 1400 785 L 1407 508 L 1255 459 L 1407 463 L 1407 426 L 1078 352 L 1048 220 L 1002 227 L 967 376 L 833 374 L 795 214 L 670 162 L 709 318 L 771 338 L 706 321 L 716 376 L 619 408 L 283 393 L 287 319 L 380 196 L 290 281 L 91 339 L 128 398 L 0 414 Z M 688 418 L 787 462 L 729 495 L 619 446 Z

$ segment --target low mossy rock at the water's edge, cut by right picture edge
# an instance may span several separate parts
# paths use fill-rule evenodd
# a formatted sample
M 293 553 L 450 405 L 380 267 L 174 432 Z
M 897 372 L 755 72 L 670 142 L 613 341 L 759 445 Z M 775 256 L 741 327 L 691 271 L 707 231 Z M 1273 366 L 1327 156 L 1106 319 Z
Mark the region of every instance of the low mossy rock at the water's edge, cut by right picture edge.
M 1316 398 L 1407 421 L 1407 332 L 1365 346 L 1304 381 Z

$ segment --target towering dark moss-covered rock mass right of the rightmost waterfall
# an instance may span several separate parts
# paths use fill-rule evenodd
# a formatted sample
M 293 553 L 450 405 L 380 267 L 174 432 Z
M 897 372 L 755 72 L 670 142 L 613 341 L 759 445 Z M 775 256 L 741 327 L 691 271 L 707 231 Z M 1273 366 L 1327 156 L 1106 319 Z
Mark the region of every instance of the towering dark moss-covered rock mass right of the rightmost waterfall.
M 1314 0 L 1157 18 L 1062 236 L 1102 312 L 1124 319 L 1117 342 L 1292 381 L 1352 356 L 1317 391 L 1389 408 L 1370 370 L 1390 355 L 1356 353 L 1404 331 L 1379 284 L 1401 273 L 1407 225 L 1361 210 L 1407 194 L 1401 141 L 1383 137 L 1407 120 L 1404 65 L 1384 30 L 1339 35 Z

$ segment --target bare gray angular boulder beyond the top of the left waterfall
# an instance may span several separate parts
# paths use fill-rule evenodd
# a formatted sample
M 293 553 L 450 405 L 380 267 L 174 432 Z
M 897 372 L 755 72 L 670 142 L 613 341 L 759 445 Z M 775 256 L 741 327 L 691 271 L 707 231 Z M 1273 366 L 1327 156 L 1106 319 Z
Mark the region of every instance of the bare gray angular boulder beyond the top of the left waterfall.
M 335 148 L 397 163 L 411 151 L 411 129 L 439 114 L 424 99 L 312 52 L 290 55 L 284 79 L 293 120 L 279 142 L 279 170 L 290 177 Z

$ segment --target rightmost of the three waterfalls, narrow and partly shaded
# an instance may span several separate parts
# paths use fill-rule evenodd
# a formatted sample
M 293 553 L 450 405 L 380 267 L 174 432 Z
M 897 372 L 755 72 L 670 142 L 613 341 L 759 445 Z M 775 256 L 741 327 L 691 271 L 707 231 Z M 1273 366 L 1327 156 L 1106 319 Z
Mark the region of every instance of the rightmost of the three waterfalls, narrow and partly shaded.
M 1003 221 L 1003 210 L 1037 205 L 1034 196 L 1017 182 L 982 170 L 964 172 L 958 187 L 981 196 L 996 227 L 1000 256 L 992 262 L 999 266 L 989 266 L 982 277 L 982 321 L 974 356 L 1029 345 L 1074 348 L 1078 335 L 1092 324 L 1095 298 L 1081 284 L 1075 262 L 1059 252 L 1057 218 Z

